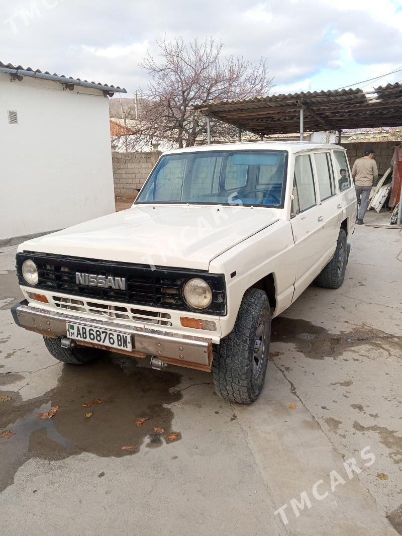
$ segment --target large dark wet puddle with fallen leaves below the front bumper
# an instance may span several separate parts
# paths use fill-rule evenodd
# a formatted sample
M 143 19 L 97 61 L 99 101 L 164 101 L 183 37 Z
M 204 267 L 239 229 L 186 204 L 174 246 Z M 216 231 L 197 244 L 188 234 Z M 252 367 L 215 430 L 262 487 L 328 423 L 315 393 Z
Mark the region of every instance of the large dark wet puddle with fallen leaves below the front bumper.
M 31 458 L 61 460 L 82 452 L 131 456 L 144 443 L 159 448 L 169 442 L 175 431 L 174 414 L 165 406 L 182 399 L 180 391 L 169 392 L 180 384 L 181 376 L 111 355 L 85 367 L 64 365 L 57 387 L 38 399 L 23 401 L 18 392 L 2 392 L 12 400 L 0 404 L 0 430 L 15 435 L 0 438 L 0 491 L 13 483 L 18 468 Z M 93 404 L 96 398 L 102 402 Z M 55 416 L 39 419 L 38 414 L 51 406 L 59 407 Z M 91 418 L 85 418 L 88 412 L 93 413 Z M 137 419 L 148 420 L 137 426 L 132 422 Z M 163 433 L 155 433 L 155 427 L 163 428 Z M 128 445 L 130 449 L 122 450 Z

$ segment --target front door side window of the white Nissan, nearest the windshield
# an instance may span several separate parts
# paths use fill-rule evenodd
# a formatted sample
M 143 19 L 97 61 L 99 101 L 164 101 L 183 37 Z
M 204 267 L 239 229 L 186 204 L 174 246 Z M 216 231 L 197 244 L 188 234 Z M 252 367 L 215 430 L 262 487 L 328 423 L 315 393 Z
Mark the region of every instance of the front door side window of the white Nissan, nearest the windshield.
M 291 215 L 294 216 L 299 212 L 303 212 L 303 210 L 310 209 L 316 203 L 311 158 L 309 154 L 302 154 L 296 157 L 294 162 Z

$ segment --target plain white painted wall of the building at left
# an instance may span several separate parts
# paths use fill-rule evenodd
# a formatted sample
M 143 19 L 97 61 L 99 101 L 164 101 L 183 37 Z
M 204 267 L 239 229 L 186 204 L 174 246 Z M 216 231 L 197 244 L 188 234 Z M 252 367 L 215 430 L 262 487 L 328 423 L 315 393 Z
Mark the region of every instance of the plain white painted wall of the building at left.
M 8 110 L 17 110 L 17 125 Z M 0 73 L 0 240 L 114 210 L 108 99 Z

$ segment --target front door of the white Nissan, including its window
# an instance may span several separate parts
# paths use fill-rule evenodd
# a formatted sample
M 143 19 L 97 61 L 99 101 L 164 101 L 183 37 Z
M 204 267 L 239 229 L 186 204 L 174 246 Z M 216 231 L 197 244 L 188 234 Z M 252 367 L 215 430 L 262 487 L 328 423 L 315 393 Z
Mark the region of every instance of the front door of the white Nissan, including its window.
M 295 157 L 291 225 L 296 249 L 293 301 L 317 276 L 323 257 L 323 215 L 317 204 L 311 154 Z

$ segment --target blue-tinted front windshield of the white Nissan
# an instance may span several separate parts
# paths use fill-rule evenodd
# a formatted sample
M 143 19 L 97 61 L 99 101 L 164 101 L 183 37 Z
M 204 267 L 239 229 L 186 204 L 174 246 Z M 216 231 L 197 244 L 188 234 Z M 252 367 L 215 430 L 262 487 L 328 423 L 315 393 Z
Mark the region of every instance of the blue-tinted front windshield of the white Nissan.
M 243 204 L 280 207 L 287 151 L 200 151 L 167 154 L 136 203 Z

